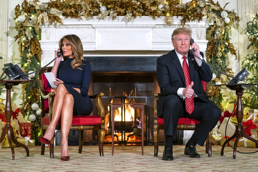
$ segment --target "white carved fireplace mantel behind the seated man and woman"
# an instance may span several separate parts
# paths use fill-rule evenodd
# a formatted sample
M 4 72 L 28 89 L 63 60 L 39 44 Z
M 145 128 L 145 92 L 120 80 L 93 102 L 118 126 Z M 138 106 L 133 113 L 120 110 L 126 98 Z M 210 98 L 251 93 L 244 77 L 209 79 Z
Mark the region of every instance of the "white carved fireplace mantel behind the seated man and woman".
M 40 25 L 41 65 L 53 59 L 59 39 L 67 34 L 81 38 L 85 56 L 159 56 L 173 49 L 171 35 L 173 30 L 181 27 L 180 20 L 181 17 L 174 17 L 173 25 L 168 25 L 163 17 L 155 20 L 147 16 L 137 17 L 130 22 L 123 16 L 115 20 L 110 17 L 105 20 L 97 17 L 89 20 L 84 17 L 81 20 L 63 17 L 62 25 Z M 209 25 L 203 18 L 200 22 L 187 22 L 184 26 L 192 29 L 192 38 L 204 53 Z

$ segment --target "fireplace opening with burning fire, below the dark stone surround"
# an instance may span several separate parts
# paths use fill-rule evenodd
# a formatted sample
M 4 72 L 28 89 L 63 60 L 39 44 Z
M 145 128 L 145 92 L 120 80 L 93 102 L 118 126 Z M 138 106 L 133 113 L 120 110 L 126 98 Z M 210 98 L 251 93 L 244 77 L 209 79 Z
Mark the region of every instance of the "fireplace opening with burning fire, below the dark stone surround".
M 110 103 L 145 103 L 144 126 L 141 125 L 139 109 L 127 105 L 115 111 L 114 142 L 132 145 L 144 139 L 146 145 L 149 143 L 153 127 L 155 77 L 155 72 L 93 72 L 94 93 L 103 92 L 105 95 L 102 98 L 106 113 L 104 144 L 112 142 Z M 144 136 L 141 136 L 142 129 Z

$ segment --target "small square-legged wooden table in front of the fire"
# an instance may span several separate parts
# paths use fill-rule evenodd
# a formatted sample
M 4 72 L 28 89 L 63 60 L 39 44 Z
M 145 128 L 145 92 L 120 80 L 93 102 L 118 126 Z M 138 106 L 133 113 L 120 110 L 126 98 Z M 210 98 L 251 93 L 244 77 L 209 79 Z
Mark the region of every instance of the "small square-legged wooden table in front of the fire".
M 115 125 L 115 109 L 122 108 L 125 105 L 132 105 L 134 108 L 141 110 L 141 121 L 142 121 L 142 155 L 143 155 L 143 126 L 144 126 L 144 106 L 145 103 L 111 103 L 111 120 L 112 120 L 112 155 L 114 153 L 114 125 Z

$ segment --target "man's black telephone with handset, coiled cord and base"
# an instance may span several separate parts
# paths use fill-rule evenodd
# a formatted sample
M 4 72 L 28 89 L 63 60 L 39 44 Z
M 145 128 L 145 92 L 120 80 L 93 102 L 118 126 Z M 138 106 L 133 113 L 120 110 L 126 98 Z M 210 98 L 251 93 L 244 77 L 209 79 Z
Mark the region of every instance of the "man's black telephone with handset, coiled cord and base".
M 193 43 L 194 43 L 194 40 L 191 38 L 190 44 L 192 45 Z M 194 55 L 194 48 L 190 50 L 190 54 Z M 197 58 L 198 58 L 199 60 L 201 60 L 203 63 L 207 64 L 206 61 L 204 61 L 204 60 L 201 59 L 200 57 L 198 57 L 198 56 L 196 56 L 196 55 L 194 55 L 194 57 L 197 57 Z M 223 75 L 226 75 L 227 77 L 232 78 L 232 79 L 228 82 L 228 84 L 235 84 L 235 83 L 237 83 L 237 82 L 243 82 L 243 80 L 246 79 L 247 76 L 249 75 L 249 72 L 246 70 L 245 67 L 244 67 L 240 72 L 238 72 L 238 74 L 236 74 L 235 77 L 231 77 L 230 75 L 225 74 L 224 72 L 219 71 L 217 68 L 211 66 L 210 64 L 207 64 L 207 65 L 208 65 L 209 67 L 211 67 L 212 69 L 214 69 L 214 70 L 216 70 L 216 71 L 222 73 Z M 248 84 L 248 83 L 246 83 L 246 82 L 243 82 L 243 83 Z

